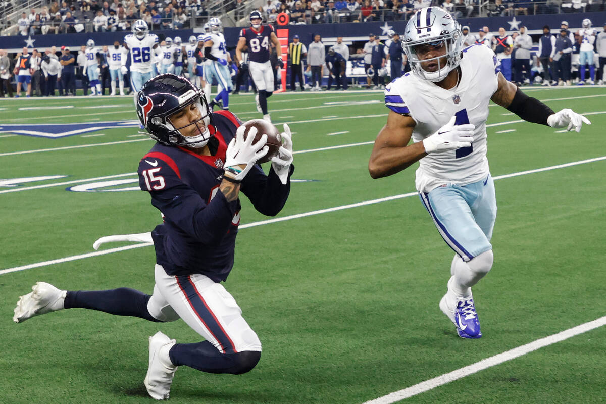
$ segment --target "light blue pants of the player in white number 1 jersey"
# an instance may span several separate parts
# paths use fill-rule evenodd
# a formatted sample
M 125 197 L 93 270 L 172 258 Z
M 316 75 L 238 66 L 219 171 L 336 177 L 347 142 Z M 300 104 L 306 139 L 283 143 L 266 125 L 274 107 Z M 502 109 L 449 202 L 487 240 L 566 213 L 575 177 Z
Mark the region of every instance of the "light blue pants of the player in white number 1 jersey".
M 496 197 L 490 174 L 473 184 L 447 184 L 419 196 L 448 247 L 464 261 L 492 249 Z

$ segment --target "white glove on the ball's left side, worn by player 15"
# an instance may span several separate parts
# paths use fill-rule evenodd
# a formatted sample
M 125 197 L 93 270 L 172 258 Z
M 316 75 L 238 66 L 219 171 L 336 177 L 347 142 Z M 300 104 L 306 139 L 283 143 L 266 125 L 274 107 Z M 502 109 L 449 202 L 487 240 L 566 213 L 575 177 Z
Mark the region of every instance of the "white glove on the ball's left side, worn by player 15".
M 248 130 L 246 140 L 244 140 L 245 131 L 246 127 L 241 125 L 236 130 L 236 137 L 231 139 L 231 142 L 227 146 L 227 151 L 225 151 L 224 176 L 236 181 L 243 180 L 256 161 L 265 156 L 269 150 L 269 147 L 265 146 L 265 143 L 267 143 L 267 134 L 261 136 L 261 139 L 253 144 L 257 128 L 251 127 Z

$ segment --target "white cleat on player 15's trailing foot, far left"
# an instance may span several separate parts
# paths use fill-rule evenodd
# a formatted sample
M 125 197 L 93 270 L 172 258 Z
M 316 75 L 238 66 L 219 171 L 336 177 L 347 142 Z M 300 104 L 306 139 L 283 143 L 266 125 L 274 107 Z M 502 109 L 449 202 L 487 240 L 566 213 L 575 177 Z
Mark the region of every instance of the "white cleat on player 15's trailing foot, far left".
M 13 316 L 14 322 L 22 323 L 34 316 L 64 308 L 63 302 L 67 291 L 59 290 L 46 282 L 36 282 L 32 290 L 33 292 L 19 297 Z

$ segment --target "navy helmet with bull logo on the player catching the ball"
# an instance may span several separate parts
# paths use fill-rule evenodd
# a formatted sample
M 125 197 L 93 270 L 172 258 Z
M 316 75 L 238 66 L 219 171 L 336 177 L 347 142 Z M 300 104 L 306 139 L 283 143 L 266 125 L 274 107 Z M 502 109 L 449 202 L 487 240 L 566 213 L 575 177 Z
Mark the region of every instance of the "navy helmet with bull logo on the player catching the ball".
M 201 118 L 187 125 L 175 127 L 170 121 L 171 114 L 191 104 L 198 107 Z M 158 75 L 146 82 L 137 94 L 139 122 L 145 127 L 151 139 L 168 146 L 204 147 L 212 137 L 208 130 L 211 112 L 204 91 L 188 79 L 170 73 Z M 191 125 L 196 125 L 198 134 L 183 136 L 181 130 Z

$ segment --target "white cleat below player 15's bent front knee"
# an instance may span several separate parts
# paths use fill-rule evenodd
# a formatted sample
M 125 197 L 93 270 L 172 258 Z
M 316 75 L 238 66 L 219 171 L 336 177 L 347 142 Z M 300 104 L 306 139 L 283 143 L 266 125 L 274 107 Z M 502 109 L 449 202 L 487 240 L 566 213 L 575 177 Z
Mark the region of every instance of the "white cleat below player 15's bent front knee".
M 153 399 L 170 398 L 170 385 L 173 383 L 177 366 L 170 362 L 168 351 L 175 343 L 174 339 L 168 338 L 160 331 L 150 337 L 150 360 L 143 383 Z

